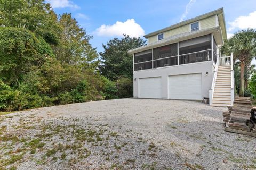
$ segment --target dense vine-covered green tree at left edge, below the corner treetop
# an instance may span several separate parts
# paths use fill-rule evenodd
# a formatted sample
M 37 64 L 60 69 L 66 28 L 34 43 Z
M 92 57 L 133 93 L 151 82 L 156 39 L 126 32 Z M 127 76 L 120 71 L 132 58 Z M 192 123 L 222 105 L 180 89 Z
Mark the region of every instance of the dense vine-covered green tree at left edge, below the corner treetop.
M 23 28 L 0 27 L 0 46 L 0 78 L 7 84 L 54 57 L 49 44 Z

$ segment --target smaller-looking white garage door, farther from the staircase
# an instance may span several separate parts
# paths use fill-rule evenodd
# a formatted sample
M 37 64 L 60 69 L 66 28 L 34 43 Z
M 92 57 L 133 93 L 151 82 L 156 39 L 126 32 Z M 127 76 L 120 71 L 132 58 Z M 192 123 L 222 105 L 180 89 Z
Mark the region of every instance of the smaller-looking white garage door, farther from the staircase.
M 139 79 L 140 98 L 161 98 L 162 87 L 161 77 Z

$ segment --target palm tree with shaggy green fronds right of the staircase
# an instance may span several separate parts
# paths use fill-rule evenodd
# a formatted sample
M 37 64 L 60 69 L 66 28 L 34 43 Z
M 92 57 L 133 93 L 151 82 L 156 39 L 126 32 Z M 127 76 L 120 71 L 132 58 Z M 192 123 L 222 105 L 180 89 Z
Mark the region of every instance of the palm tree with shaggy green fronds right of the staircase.
M 247 29 L 235 33 L 233 37 L 225 40 L 221 47 L 222 54 L 234 53 L 234 60 L 240 61 L 240 90 L 239 96 L 244 96 L 244 69 L 246 63 L 251 63 L 256 56 L 256 30 Z

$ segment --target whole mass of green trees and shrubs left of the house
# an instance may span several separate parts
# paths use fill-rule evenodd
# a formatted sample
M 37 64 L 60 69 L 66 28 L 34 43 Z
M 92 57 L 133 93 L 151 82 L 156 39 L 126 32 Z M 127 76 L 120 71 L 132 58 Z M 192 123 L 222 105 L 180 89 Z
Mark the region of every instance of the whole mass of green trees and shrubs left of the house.
M 0 0 L 0 11 L 0 111 L 132 97 L 127 50 L 142 39 L 110 40 L 99 60 L 93 37 L 44 0 Z

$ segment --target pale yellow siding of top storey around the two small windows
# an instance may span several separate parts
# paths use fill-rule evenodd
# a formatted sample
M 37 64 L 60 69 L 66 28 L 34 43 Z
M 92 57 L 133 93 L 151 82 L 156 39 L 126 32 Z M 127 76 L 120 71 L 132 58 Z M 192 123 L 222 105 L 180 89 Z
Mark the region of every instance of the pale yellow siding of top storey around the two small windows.
M 210 16 L 208 18 L 199 20 L 199 28 L 200 29 L 207 29 L 207 28 L 213 28 L 216 27 L 216 16 Z M 178 28 L 174 28 L 172 30 L 164 32 L 164 38 L 171 37 L 180 33 L 190 32 L 190 24 L 183 25 Z M 148 37 L 148 44 L 154 43 L 157 41 L 157 35 Z

